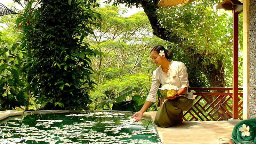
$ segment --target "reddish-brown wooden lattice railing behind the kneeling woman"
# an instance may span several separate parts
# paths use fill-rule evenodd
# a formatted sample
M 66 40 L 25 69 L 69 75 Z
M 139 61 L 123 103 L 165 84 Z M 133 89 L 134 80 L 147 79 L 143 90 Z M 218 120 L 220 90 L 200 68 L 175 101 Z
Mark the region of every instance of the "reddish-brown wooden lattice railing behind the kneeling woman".
M 232 88 L 190 88 L 194 91 L 212 91 L 220 90 L 225 92 L 193 92 L 196 100 L 192 108 L 183 114 L 185 121 L 219 121 L 228 120 L 233 116 L 233 109 L 238 114 L 238 118 L 242 120 L 243 116 L 243 93 L 238 92 L 238 104 L 233 108 Z M 239 91 L 243 88 L 238 88 Z

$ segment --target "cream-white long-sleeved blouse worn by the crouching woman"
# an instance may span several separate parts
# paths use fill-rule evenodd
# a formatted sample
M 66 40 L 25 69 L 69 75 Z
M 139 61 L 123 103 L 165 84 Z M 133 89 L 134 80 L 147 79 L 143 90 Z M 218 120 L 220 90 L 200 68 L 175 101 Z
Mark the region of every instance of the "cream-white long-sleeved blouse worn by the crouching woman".
M 179 89 L 188 87 L 188 73 L 187 68 L 183 62 L 171 61 L 171 66 L 167 73 L 162 70 L 161 65 L 153 72 L 151 89 L 148 93 L 147 101 L 156 102 L 157 89 L 160 84 L 172 84 Z M 182 95 L 188 99 L 194 100 L 195 97 L 192 92 L 185 91 Z

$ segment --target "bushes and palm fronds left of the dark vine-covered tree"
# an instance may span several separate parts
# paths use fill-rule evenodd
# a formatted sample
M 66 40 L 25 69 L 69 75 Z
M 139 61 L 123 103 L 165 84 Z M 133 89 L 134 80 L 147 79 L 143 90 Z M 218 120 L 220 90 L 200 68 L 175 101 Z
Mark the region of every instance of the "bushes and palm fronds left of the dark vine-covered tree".
M 1 33 L 1 89 L 4 93 L 1 94 L 1 107 L 12 109 L 20 107 L 28 109 L 30 104 L 30 93 L 28 91 L 28 83 L 26 83 L 26 74 L 23 72 L 22 67 L 24 61 L 27 60 L 23 56 L 26 50 L 20 46 L 20 41 L 24 34 L 21 34 L 23 26 L 27 26 L 30 20 L 33 19 L 36 12 L 34 11 L 41 1 L 35 0 L 13 0 L 16 4 L 23 7 L 21 10 L 15 8 L 14 3 L 8 5 L 15 14 L 4 15 L 0 18 L 0 22 L 7 27 L 3 28 Z M 18 19 L 19 18 L 19 19 Z M 18 25 L 16 20 L 18 19 Z M 22 22 L 21 22 L 22 21 Z M 9 50 L 9 51 L 8 51 Z M 32 99 L 33 101 L 33 99 Z M 25 106 L 23 108 L 22 106 Z

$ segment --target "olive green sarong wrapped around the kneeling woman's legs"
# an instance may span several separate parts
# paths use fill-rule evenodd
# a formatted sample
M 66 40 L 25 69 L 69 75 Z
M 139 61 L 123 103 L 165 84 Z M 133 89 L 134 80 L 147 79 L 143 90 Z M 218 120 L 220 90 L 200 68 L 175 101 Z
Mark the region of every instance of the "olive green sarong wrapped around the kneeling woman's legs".
M 193 100 L 180 96 L 173 100 L 167 99 L 157 110 L 155 124 L 162 128 L 171 127 L 178 123 L 183 111 L 187 111 L 193 105 Z

